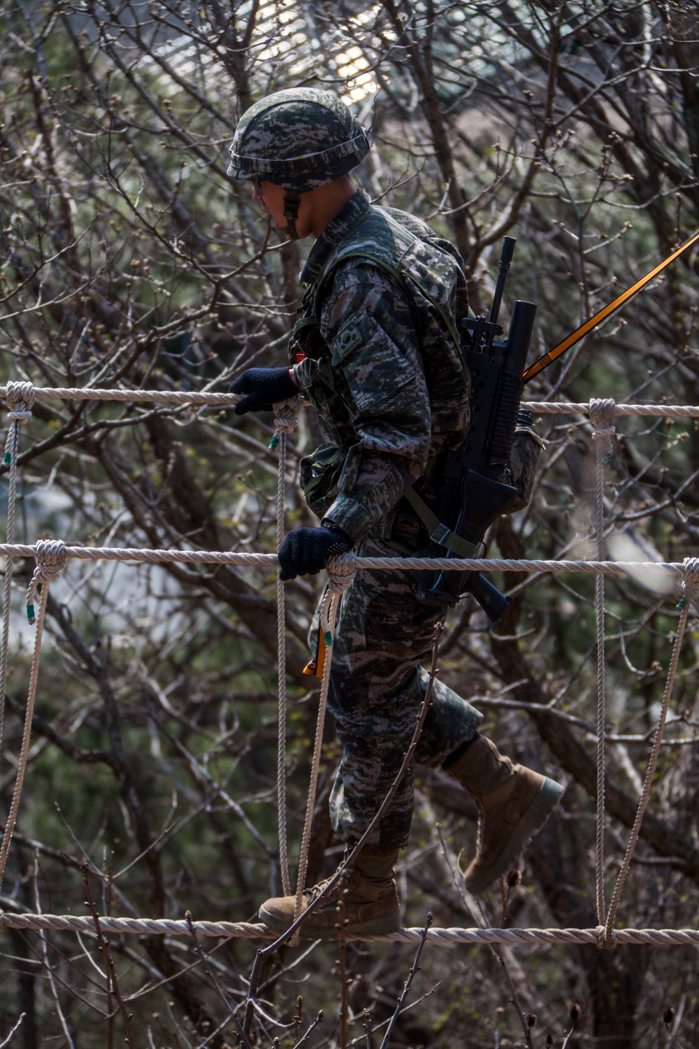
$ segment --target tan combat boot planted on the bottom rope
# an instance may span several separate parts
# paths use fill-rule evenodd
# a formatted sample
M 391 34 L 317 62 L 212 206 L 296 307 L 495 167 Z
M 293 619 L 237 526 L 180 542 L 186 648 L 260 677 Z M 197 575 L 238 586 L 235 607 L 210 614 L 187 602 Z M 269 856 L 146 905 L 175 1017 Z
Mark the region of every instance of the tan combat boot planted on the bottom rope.
M 400 928 L 400 901 L 393 878 L 397 858 L 397 852 L 372 854 L 363 851 L 308 916 L 301 926 L 301 935 L 312 940 L 336 940 L 341 921 L 346 936 L 395 933 Z M 328 881 L 326 878 L 304 891 L 302 914 Z M 281 935 L 293 921 L 294 905 L 293 896 L 275 897 L 262 904 L 260 919 L 272 933 Z

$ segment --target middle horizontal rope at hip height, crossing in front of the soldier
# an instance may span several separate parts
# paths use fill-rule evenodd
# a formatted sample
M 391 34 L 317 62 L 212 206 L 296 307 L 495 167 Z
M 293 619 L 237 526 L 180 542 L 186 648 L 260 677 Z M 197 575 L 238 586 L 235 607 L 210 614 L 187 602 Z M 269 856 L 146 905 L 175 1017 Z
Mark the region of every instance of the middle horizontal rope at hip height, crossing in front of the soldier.
M 7 557 L 36 557 L 37 547 L 19 543 L 0 543 L 0 555 Z M 222 550 L 149 550 L 140 547 L 66 547 L 65 556 L 81 561 L 144 561 L 184 564 L 238 564 L 257 568 L 276 568 L 277 554 L 249 554 Z M 682 561 L 527 561 L 494 557 L 356 557 L 357 569 L 386 569 L 406 572 L 428 569 L 435 572 L 599 572 L 606 576 L 624 576 L 629 573 L 668 572 L 681 576 Z

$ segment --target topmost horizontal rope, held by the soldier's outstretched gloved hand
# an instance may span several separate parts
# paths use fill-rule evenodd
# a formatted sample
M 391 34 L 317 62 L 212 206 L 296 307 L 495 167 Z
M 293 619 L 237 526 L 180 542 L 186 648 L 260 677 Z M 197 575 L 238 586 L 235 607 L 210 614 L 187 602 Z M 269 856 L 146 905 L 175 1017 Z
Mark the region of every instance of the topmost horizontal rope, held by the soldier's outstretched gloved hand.
M 0 386 L 0 397 L 5 398 L 6 386 Z M 170 405 L 218 405 L 234 407 L 240 401 L 239 393 L 198 393 L 194 390 L 129 390 L 129 389 L 97 389 L 73 386 L 36 386 L 34 389 L 38 401 L 59 399 L 61 401 L 119 401 L 141 404 Z M 522 407 L 536 414 L 587 414 L 590 410 L 588 402 L 573 403 L 568 401 L 523 401 Z M 699 406 L 676 404 L 617 404 L 617 415 L 656 415 L 669 419 L 699 419 Z

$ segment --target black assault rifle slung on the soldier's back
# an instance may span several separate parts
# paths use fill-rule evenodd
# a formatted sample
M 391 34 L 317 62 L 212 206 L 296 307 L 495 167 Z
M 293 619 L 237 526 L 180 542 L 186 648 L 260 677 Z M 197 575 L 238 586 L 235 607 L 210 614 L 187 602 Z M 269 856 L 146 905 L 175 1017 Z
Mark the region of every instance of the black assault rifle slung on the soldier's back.
M 517 497 L 508 463 L 524 384 L 529 340 L 537 306 L 518 299 L 507 338 L 498 324 L 500 303 L 516 239 L 505 237 L 500 256 L 490 317 L 464 318 L 462 355 L 471 374 L 471 419 L 463 443 L 439 457 L 436 513 L 423 501 L 419 486 L 407 498 L 428 524 L 431 543 L 416 556 L 482 557 L 483 536 Z M 473 594 L 495 623 L 510 603 L 480 572 L 413 572 L 417 596 L 430 604 L 453 605 Z

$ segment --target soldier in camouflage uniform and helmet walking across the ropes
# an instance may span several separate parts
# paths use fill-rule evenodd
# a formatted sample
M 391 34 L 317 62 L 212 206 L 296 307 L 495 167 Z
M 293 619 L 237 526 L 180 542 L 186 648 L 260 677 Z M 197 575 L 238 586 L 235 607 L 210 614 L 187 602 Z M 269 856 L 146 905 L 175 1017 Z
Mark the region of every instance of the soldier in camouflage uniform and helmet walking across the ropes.
M 316 573 L 329 554 L 352 548 L 390 557 L 427 547 L 425 527 L 403 494 L 440 451 L 461 443 L 468 423 L 458 334 L 458 318 L 468 312 L 462 260 L 424 222 L 373 207 L 355 189 L 348 172 L 369 148 L 350 110 L 316 88 L 257 102 L 231 147 L 228 173 L 253 181 L 253 199 L 282 236 L 315 237 L 301 274 L 306 291 L 290 366 L 249 368 L 231 387 L 244 394 L 238 414 L 268 411 L 302 391 L 319 418 L 325 443 L 302 462 L 301 475 L 321 523 L 287 535 L 279 551 L 282 579 Z M 357 573 L 344 596 L 328 700 L 343 757 L 330 810 L 349 845 L 400 768 L 428 682 L 420 663 L 445 613 L 420 603 L 396 572 Z M 473 893 L 511 866 L 563 790 L 502 756 L 479 734 L 480 720 L 435 681 L 416 752 L 419 764 L 444 769 L 479 807 L 476 855 L 464 874 Z M 336 935 L 341 893 L 348 934 L 398 927 L 394 868 L 412 811 L 410 768 L 344 881 L 308 916 L 307 935 Z M 304 906 L 316 892 L 306 890 Z M 260 917 L 282 933 L 293 911 L 293 897 L 282 897 L 267 900 Z

